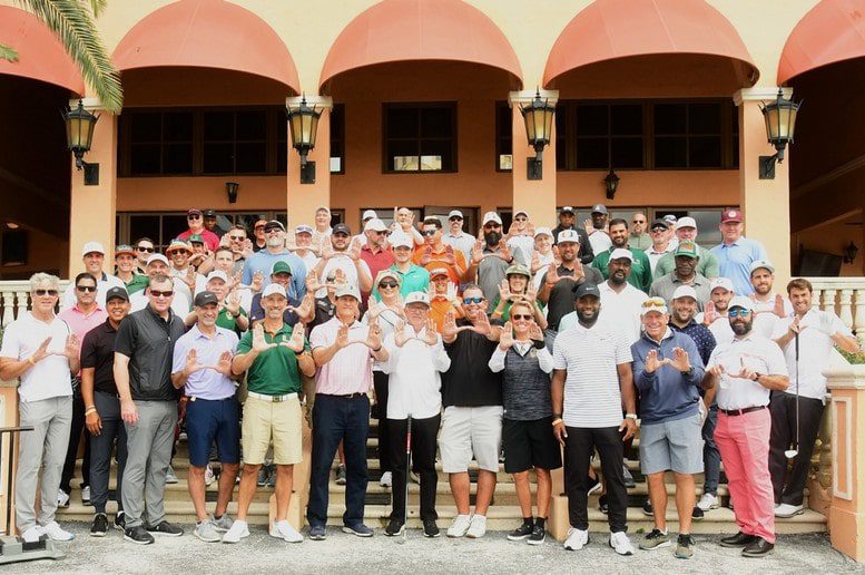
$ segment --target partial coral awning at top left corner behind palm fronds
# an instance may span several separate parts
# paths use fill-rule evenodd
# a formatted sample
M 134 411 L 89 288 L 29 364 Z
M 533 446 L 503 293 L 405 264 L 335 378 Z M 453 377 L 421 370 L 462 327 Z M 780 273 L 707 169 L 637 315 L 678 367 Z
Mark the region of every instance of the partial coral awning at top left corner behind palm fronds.
M 0 6 L 0 43 L 18 51 L 17 62 L 0 60 L 0 74 L 31 78 L 83 96 L 85 82 L 75 62 L 48 27 L 30 12 Z

